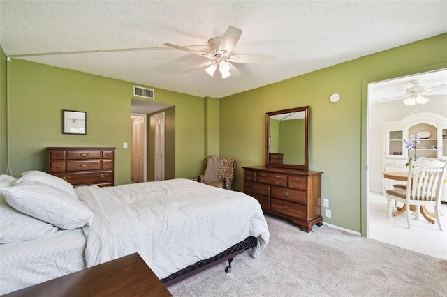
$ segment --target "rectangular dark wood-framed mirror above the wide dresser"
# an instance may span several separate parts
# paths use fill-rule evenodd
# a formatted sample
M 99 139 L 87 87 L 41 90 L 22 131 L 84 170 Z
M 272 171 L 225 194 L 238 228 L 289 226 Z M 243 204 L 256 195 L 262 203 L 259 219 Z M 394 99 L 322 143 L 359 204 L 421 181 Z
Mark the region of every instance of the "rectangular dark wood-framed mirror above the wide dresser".
M 309 169 L 309 109 L 265 114 L 265 167 Z

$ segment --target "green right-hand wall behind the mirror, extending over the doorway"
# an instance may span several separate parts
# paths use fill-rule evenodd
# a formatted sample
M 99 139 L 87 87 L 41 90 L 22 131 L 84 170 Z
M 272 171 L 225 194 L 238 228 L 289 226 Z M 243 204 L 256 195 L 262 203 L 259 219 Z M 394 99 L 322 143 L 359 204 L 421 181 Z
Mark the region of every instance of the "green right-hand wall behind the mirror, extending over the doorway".
M 364 81 L 434 70 L 440 63 L 446 67 L 446 62 L 444 33 L 221 98 L 221 127 L 225 129 L 220 132 L 220 152 L 238 163 L 233 188 L 242 190 L 242 166 L 264 164 L 265 113 L 309 105 L 309 169 L 324 172 L 321 198 L 330 200 L 332 210 L 332 218 L 323 215 L 323 219 L 365 235 Z M 331 103 L 332 93 L 339 93 L 342 99 Z

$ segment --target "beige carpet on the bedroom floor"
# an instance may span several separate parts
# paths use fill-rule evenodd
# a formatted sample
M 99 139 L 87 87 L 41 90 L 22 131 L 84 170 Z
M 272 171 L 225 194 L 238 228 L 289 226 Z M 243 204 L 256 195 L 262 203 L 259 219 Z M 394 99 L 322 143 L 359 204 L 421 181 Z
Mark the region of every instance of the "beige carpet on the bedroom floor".
M 447 261 L 266 215 L 270 243 L 168 287 L 173 296 L 447 296 Z

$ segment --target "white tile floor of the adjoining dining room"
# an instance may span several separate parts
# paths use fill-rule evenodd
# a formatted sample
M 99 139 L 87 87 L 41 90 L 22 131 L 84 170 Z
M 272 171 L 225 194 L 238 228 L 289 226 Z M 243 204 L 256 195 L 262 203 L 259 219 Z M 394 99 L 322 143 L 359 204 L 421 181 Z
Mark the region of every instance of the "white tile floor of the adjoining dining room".
M 369 192 L 368 198 L 369 238 L 447 260 L 447 204 L 441 206 L 441 213 L 444 214 L 441 215 L 444 231 L 439 231 L 437 222 L 430 224 L 422 216 L 419 220 L 415 220 L 412 216 L 411 229 L 408 229 L 406 214 L 387 218 L 386 196 Z M 428 210 L 433 211 L 430 208 Z

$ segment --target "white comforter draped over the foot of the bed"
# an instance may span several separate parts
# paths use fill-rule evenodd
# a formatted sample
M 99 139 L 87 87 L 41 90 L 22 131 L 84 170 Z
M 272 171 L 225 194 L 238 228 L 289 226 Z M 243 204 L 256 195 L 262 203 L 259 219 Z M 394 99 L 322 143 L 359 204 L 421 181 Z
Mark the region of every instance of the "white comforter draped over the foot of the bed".
M 258 238 L 253 257 L 269 241 L 261 206 L 241 192 L 187 179 L 75 191 L 94 211 L 82 227 L 87 267 L 138 252 L 162 279 L 248 236 Z

